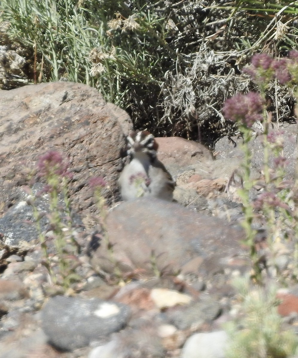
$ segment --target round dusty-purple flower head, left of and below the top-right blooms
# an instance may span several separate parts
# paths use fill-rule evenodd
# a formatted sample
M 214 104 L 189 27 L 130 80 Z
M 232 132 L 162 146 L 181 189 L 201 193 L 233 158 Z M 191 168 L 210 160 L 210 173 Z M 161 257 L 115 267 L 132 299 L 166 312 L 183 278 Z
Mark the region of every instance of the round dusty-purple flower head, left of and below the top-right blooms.
M 264 100 L 259 93 L 249 92 L 247 95 L 238 93 L 224 102 L 223 112 L 232 121 L 251 127 L 256 121 L 262 121 L 263 107 Z

